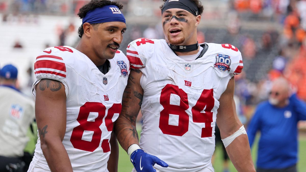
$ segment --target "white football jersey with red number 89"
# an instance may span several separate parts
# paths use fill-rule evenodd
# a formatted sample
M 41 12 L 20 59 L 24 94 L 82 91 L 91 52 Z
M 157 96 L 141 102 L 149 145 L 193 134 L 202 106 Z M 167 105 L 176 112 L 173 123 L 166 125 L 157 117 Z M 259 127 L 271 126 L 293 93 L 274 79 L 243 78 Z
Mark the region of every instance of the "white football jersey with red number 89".
M 121 112 L 122 94 L 129 74 L 129 61 L 117 51 L 104 75 L 80 51 L 68 47 L 51 47 L 36 58 L 36 80 L 62 82 L 66 92 L 67 124 L 63 144 L 73 171 L 108 171 L 110 135 L 113 122 Z M 38 139 L 32 164 L 50 170 Z

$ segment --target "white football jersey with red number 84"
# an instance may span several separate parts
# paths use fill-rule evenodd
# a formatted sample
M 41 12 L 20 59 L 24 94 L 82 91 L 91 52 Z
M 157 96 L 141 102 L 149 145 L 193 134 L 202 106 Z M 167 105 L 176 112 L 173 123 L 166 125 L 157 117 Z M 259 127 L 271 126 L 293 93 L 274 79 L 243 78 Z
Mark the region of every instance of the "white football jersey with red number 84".
M 168 163 L 154 166 L 160 171 L 194 172 L 211 164 L 218 99 L 243 63 L 236 47 L 207 45 L 203 57 L 191 62 L 164 39 L 137 39 L 127 48 L 131 68 L 143 73 L 140 148 Z

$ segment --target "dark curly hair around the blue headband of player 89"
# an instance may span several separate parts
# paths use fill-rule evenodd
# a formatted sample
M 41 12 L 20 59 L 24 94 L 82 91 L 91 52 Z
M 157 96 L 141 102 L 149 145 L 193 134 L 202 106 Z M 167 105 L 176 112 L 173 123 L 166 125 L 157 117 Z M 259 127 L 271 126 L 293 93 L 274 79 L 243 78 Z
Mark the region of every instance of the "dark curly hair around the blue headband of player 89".
M 80 11 L 79 13 L 77 14 L 80 19 L 83 19 L 86 14 L 88 13 L 88 11 L 91 11 L 93 9 L 96 9 L 96 8 L 100 8 L 100 7 L 103 7 L 103 6 L 109 6 L 109 5 L 113 5 L 113 6 L 117 6 L 119 9 L 122 9 L 123 6 L 119 3 L 119 2 L 112 2 L 112 1 L 109 1 L 109 0 L 91 0 L 88 4 L 82 6 L 80 8 Z M 91 24 L 91 25 L 96 25 L 96 24 L 99 24 L 99 23 L 94 23 L 94 24 Z M 83 24 L 79 27 L 79 30 L 78 30 L 78 35 L 80 38 L 82 38 L 84 34 L 84 29 L 83 29 Z

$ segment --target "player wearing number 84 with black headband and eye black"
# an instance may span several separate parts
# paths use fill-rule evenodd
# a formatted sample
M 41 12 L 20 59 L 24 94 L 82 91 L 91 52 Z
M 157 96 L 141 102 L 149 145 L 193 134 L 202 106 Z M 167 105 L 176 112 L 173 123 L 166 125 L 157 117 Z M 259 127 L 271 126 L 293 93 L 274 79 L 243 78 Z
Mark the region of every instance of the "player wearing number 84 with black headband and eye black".
M 165 0 L 161 10 L 166 39 L 141 38 L 127 48 L 133 70 L 115 129 L 133 171 L 213 171 L 216 122 L 236 169 L 255 171 L 233 99 L 234 75 L 243 68 L 240 51 L 230 44 L 197 42 L 200 1 Z

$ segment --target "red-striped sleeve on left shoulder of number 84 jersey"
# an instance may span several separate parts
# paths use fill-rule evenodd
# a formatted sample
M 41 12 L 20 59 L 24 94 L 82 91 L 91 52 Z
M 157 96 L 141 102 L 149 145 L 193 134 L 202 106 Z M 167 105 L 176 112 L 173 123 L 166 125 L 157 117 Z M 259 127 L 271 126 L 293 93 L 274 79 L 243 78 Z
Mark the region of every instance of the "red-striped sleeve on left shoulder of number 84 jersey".
M 147 58 L 155 52 L 154 39 L 140 38 L 132 41 L 126 49 L 126 57 L 129 59 L 132 69 L 145 67 Z

